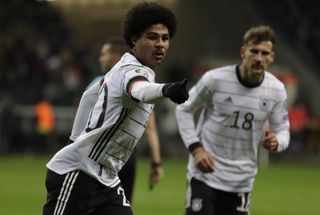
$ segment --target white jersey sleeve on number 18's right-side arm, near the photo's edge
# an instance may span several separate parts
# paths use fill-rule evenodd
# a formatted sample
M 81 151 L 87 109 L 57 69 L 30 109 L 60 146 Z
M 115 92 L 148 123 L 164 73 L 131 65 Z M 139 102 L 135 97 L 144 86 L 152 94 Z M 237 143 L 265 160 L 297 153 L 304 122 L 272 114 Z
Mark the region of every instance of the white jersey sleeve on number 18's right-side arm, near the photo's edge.
M 284 86 L 282 90 L 277 93 L 277 98 L 277 104 L 269 117 L 269 124 L 271 131 L 277 135 L 277 151 L 281 152 L 289 146 L 290 141 L 287 92 Z

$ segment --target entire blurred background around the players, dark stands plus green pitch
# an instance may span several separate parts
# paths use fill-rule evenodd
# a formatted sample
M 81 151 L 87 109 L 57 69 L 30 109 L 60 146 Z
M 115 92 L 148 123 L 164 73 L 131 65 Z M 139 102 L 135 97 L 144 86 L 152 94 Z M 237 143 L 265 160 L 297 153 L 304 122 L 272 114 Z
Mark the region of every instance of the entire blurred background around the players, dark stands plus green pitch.
M 40 214 L 45 164 L 67 144 L 82 92 L 100 73 L 101 45 L 121 35 L 138 0 L 0 1 L 0 213 Z M 320 1 L 161 0 L 176 14 L 178 32 L 157 82 L 188 78 L 240 63 L 242 36 L 267 24 L 277 33 L 270 71 L 288 92 L 291 143 L 281 154 L 261 150 L 252 214 L 320 214 Z M 165 179 L 147 190 L 143 139 L 136 214 L 182 214 L 188 155 L 175 105 L 155 108 Z M 295 207 L 296 206 L 296 207 Z

